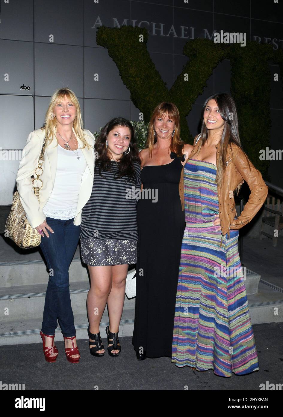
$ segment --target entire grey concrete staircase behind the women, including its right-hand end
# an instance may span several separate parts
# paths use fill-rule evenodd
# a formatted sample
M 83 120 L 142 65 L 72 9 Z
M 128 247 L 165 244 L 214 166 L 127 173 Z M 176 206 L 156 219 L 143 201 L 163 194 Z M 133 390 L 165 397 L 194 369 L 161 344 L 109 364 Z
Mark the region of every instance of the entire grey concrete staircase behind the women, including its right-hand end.
M 21 252 L 0 239 L 0 345 L 40 342 L 39 332 L 48 273 L 39 251 Z M 79 247 L 70 266 L 70 295 L 77 339 L 87 340 L 86 298 L 89 290 L 87 268 L 82 264 Z M 264 281 L 246 269 L 246 291 L 252 324 L 283 322 L 283 289 Z M 132 336 L 135 299 L 125 296 L 119 336 Z M 105 336 L 109 324 L 105 309 L 99 331 Z M 56 338 L 62 339 L 58 325 Z

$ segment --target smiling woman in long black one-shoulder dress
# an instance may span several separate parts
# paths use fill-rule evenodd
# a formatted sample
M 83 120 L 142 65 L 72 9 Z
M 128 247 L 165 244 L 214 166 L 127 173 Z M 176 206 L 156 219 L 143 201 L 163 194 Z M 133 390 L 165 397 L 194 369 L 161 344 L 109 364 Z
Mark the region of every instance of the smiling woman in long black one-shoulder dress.
M 133 345 L 137 359 L 171 357 L 185 217 L 179 180 L 186 145 L 173 103 L 161 103 L 140 152 L 143 191 L 137 203 L 137 295 Z M 146 198 L 150 196 L 151 198 Z

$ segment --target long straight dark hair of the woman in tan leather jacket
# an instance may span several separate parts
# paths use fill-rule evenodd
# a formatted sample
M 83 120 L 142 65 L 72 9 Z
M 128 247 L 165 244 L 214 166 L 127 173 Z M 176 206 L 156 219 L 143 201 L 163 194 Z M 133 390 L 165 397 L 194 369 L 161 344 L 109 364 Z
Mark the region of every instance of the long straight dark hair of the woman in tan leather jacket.
M 221 139 L 218 143 L 219 146 L 219 159 L 218 159 L 218 166 L 217 166 L 217 174 L 216 174 L 216 183 L 221 186 L 223 173 L 226 169 L 226 161 L 227 161 L 227 149 L 231 143 L 234 143 L 236 146 L 241 148 L 243 151 L 240 137 L 239 137 L 239 130 L 238 130 L 238 116 L 235 102 L 232 96 L 228 93 L 216 93 L 211 95 L 209 98 L 205 100 L 204 106 L 201 110 L 201 138 L 199 140 L 199 151 L 201 146 L 207 141 L 209 136 L 209 129 L 206 128 L 204 123 L 204 111 L 206 109 L 207 103 L 209 100 L 215 100 L 218 106 L 219 113 L 222 119 L 225 121 L 223 132 L 221 135 Z M 246 156 L 247 158 L 247 156 Z M 247 158 L 248 161 L 248 158 Z M 249 162 L 248 162 L 248 166 Z

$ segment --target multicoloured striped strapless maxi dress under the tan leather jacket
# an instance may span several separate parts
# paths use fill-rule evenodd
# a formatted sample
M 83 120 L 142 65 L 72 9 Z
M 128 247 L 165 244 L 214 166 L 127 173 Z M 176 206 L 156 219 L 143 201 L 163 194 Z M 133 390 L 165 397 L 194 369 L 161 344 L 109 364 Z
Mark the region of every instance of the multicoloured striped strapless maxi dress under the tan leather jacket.
M 238 254 L 238 230 L 223 236 L 216 166 L 190 159 L 184 167 L 186 229 L 181 246 L 172 362 L 231 377 L 259 369 Z

